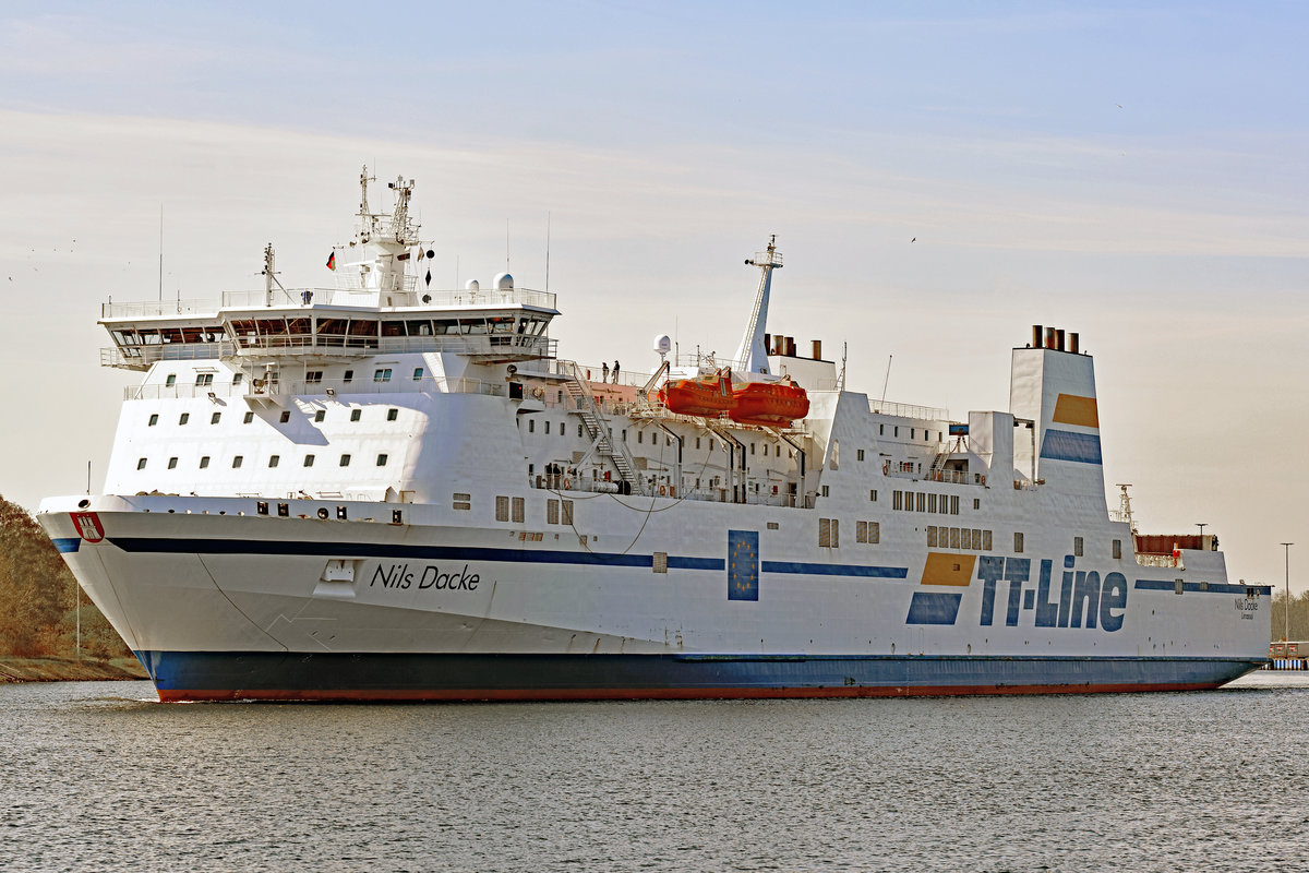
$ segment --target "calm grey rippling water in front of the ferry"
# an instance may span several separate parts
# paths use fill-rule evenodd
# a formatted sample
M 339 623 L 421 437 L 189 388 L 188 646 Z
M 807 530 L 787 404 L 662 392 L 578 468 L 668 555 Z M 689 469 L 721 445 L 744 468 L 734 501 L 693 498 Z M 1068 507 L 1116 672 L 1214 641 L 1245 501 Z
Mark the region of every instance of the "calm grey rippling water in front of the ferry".
M 1202 694 L 158 704 L 0 686 L 3 870 L 1288 870 L 1309 675 Z

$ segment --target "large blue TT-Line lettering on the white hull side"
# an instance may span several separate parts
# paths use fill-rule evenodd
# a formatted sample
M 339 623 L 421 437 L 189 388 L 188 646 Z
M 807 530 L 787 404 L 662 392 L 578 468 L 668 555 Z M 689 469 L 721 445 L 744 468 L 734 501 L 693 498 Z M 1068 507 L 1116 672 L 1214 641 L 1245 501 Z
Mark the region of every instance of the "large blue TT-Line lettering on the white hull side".
M 1054 589 L 1054 561 L 1043 559 L 1037 582 L 1031 585 L 1030 558 L 1001 558 L 984 555 L 978 561 L 978 579 L 982 580 L 982 626 L 995 623 L 996 588 L 1000 581 L 1008 582 L 1008 598 L 1001 601 L 1007 627 L 1018 626 L 1018 614 L 1035 613 L 1037 627 L 1088 627 L 1094 628 L 1098 619 L 1103 631 L 1117 631 L 1123 626 L 1123 613 L 1127 610 L 1127 579 L 1122 573 L 1100 573 L 1089 569 L 1073 569 L 1075 558 L 1064 556 L 1063 579 L 1059 581 L 1058 598 L 1051 599 Z

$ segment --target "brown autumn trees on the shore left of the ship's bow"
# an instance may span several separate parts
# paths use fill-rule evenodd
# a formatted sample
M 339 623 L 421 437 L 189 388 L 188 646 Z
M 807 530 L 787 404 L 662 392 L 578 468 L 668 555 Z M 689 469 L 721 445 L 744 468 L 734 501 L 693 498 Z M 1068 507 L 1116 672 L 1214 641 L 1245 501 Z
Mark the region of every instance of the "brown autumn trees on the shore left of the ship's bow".
M 131 656 L 127 645 L 72 572 L 41 525 L 16 503 L 0 497 L 0 654 L 69 658 Z

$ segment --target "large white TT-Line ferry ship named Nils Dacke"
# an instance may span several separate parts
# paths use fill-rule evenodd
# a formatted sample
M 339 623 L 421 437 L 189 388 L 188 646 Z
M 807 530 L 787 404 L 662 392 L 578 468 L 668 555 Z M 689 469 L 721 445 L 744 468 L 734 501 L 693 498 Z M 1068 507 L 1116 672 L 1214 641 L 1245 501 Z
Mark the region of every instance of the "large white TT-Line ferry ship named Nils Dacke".
M 161 700 L 810 698 L 1213 688 L 1270 589 L 1110 512 L 1092 356 L 1033 329 L 1007 411 L 852 390 L 767 329 L 733 360 L 558 355 L 555 294 L 432 289 L 414 182 L 332 288 L 111 302 L 103 493 L 39 520 Z M 749 288 L 742 288 L 742 302 Z M 742 305 L 742 312 L 746 312 Z M 624 355 L 630 359 L 630 355 Z

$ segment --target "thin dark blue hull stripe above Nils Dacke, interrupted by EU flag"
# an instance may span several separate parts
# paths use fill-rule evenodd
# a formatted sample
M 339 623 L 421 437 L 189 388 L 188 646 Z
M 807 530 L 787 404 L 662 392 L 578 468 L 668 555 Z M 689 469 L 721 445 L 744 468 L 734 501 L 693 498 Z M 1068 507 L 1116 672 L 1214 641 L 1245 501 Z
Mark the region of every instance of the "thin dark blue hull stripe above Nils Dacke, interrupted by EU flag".
M 275 539 L 166 539 L 153 537 L 117 537 L 107 542 L 128 552 L 196 554 L 196 555 L 323 555 L 339 558 L 397 558 L 414 560 L 488 560 L 528 564 L 586 564 L 602 567 L 652 567 L 652 555 L 618 552 L 546 551 L 529 548 L 486 548 L 474 546 L 401 546 L 386 543 L 343 543 Z M 669 569 L 726 569 L 723 558 L 669 555 Z M 859 564 L 805 564 L 795 561 L 762 561 L 766 573 L 805 573 L 813 576 L 865 576 L 870 579 L 905 579 L 905 567 L 861 567 Z

